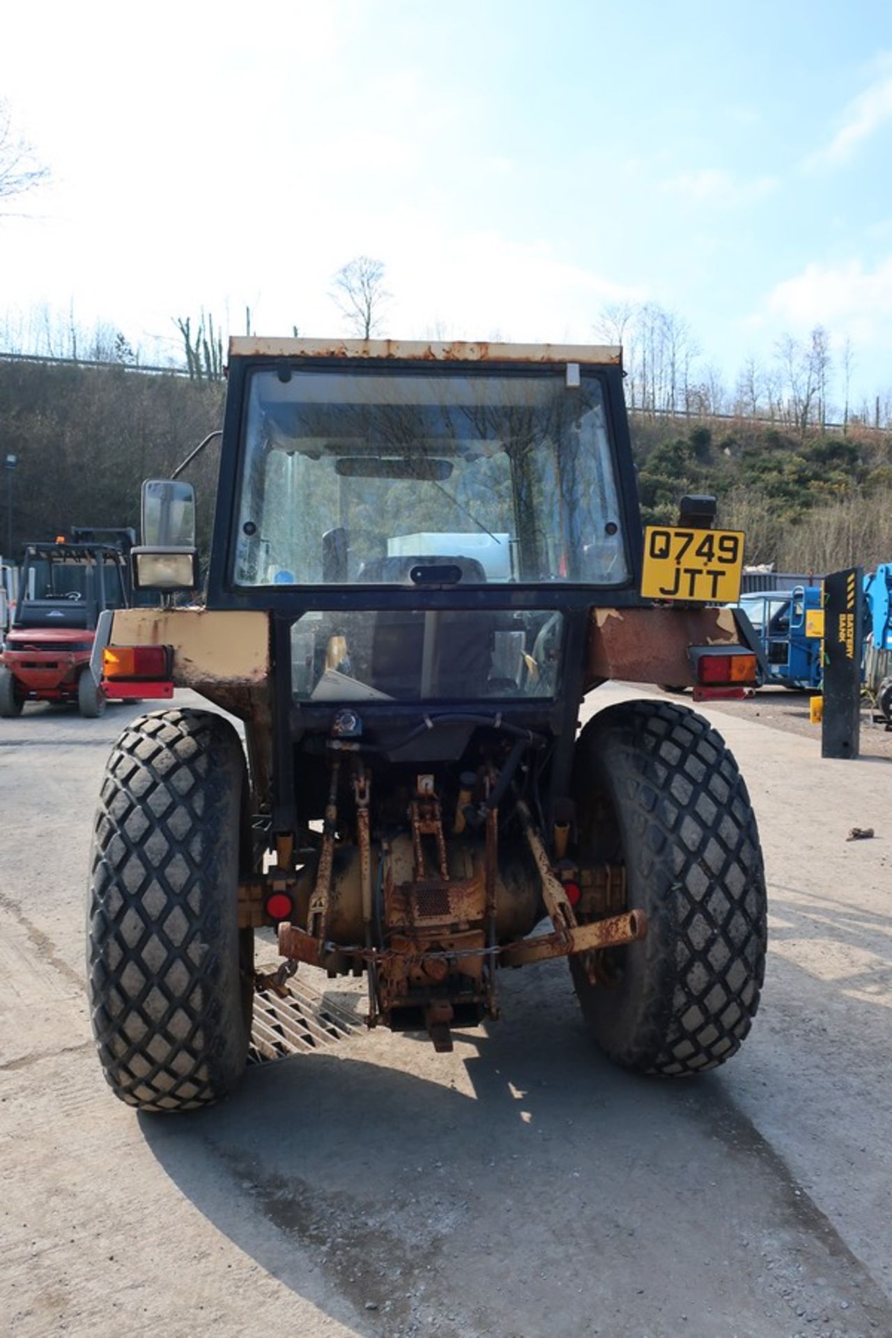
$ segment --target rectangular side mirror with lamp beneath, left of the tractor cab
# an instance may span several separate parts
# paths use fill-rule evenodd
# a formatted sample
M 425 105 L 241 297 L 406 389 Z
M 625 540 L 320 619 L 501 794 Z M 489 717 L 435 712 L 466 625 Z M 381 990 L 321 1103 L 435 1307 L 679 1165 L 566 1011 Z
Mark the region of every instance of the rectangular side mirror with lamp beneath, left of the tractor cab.
M 142 546 L 131 549 L 136 590 L 194 590 L 195 490 L 191 483 L 147 479 L 142 495 Z

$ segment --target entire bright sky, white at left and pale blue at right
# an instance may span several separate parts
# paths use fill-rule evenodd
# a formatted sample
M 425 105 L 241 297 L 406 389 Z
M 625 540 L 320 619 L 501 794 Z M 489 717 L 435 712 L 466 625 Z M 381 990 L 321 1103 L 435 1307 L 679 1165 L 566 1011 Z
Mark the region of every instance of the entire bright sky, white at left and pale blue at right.
M 657 301 L 733 383 L 781 332 L 892 388 L 892 7 L 527 0 L 51 3 L 4 17 L 0 96 L 52 170 L 0 221 L 31 312 L 177 352 L 171 317 L 592 340 Z M 52 318 L 51 317 L 51 318 Z

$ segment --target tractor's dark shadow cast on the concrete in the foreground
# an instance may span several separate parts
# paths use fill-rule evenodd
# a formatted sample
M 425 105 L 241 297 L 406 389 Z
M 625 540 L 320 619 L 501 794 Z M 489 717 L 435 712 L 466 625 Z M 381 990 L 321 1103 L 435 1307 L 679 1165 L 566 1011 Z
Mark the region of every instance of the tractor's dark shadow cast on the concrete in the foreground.
M 147 1144 L 219 1231 L 362 1338 L 675 1334 L 689 1302 L 717 1334 L 774 1331 L 760 1278 L 778 1239 L 805 1232 L 817 1271 L 829 1254 L 863 1271 L 721 1073 L 612 1068 L 566 969 L 501 993 L 507 1021 L 456 1033 L 452 1056 L 360 1036 L 250 1069 L 221 1107 L 140 1116 Z

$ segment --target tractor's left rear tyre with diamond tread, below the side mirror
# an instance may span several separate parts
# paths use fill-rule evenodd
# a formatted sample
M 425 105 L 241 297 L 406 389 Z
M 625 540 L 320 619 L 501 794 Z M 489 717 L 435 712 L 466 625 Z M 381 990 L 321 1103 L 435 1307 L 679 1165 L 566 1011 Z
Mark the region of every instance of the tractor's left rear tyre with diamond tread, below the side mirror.
M 207 1105 L 245 1069 L 246 781 L 238 735 L 205 710 L 139 716 L 108 760 L 92 848 L 90 1006 L 106 1078 L 142 1111 Z

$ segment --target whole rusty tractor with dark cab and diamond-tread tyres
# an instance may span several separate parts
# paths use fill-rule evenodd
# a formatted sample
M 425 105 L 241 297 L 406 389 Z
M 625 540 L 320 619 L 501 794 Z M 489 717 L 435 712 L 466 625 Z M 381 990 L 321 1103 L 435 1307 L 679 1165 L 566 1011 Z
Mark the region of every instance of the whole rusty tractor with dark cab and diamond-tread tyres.
M 110 690 L 218 708 L 132 720 L 102 784 L 88 990 L 124 1103 L 229 1093 L 255 991 L 298 966 L 365 977 L 370 1028 L 448 1050 L 504 970 L 566 957 L 626 1069 L 738 1050 L 766 892 L 734 757 L 666 700 L 579 729 L 607 680 L 702 701 L 757 672 L 714 499 L 642 533 L 622 376 L 617 347 L 231 340 L 203 598 L 177 605 L 194 490 L 147 480 L 158 603 L 94 648 Z

